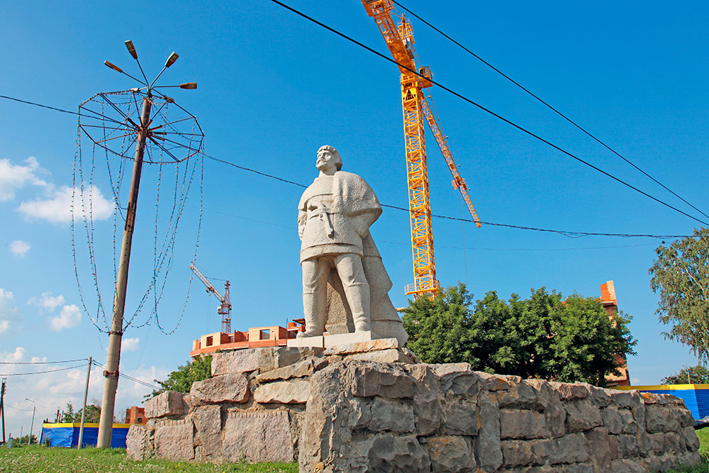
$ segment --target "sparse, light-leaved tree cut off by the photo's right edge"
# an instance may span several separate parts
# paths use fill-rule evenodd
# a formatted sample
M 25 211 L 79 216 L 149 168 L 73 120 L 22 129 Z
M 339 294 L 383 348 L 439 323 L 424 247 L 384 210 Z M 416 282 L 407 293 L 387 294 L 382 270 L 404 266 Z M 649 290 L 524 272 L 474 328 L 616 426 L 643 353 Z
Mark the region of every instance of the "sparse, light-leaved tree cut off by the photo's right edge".
M 652 291 L 659 291 L 659 321 L 671 325 L 665 338 L 688 345 L 709 362 L 709 228 L 692 237 L 660 245 L 649 269 Z

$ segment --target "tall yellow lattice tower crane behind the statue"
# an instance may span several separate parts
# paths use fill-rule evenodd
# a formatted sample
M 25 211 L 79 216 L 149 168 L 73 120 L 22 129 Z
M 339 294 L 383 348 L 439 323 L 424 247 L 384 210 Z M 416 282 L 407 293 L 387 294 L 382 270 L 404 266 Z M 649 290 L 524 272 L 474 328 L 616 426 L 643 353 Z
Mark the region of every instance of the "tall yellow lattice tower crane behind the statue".
M 423 122 L 428 123 L 438 148 L 453 176 L 453 187 L 458 189 L 476 226 L 480 220 L 468 195 L 468 187 L 460 177 L 458 168 L 448 148 L 446 137 L 441 133 L 423 89 L 431 87 L 432 74 L 428 67 L 419 67 L 413 48 L 413 30 L 405 16 L 393 9 L 391 0 L 362 0 L 367 14 L 374 18 L 384 36 L 393 59 L 398 62 L 401 73 L 401 104 L 403 106 L 403 132 L 406 146 L 406 177 L 408 179 L 408 207 L 411 213 L 411 249 L 413 252 L 413 284 L 406 286 L 406 295 L 434 297 L 439 289 L 436 265 L 433 256 L 433 233 L 431 204 L 428 194 L 428 167 Z M 392 12 L 399 18 L 394 23 Z M 418 74 L 415 73 L 418 71 Z M 435 110 L 435 106 L 433 107 Z

